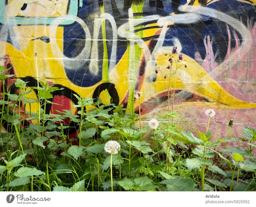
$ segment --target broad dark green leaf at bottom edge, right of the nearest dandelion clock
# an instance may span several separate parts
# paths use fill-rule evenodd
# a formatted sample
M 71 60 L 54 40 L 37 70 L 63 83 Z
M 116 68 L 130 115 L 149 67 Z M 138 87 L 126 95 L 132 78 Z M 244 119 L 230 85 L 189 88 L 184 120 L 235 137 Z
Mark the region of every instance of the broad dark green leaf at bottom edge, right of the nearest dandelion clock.
M 196 184 L 190 178 L 177 177 L 161 181 L 160 184 L 166 184 L 168 191 L 191 191 Z

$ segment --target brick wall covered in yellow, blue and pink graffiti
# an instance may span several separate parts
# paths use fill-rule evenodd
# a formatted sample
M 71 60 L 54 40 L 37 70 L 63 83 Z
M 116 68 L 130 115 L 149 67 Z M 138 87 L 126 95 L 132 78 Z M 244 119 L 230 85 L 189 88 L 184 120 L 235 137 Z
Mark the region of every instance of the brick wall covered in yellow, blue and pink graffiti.
M 139 113 L 134 92 L 143 92 L 141 115 L 158 118 L 168 107 L 168 55 L 183 60 L 171 91 L 180 129 L 225 135 L 230 119 L 256 127 L 255 0 L 0 0 L 1 65 L 17 78 L 63 87 L 53 94 L 71 109 L 81 97 L 123 104 Z M 37 52 L 37 61 L 35 58 Z M 160 72 L 156 73 L 155 71 Z M 175 84 L 175 90 L 173 92 Z M 2 85 L 2 83 L 1 83 Z M 3 91 L 3 87 L 1 87 Z M 33 95 L 31 95 L 33 96 Z M 36 97 L 36 94 L 34 94 Z M 37 108 L 36 106 L 34 106 Z M 90 108 L 90 107 L 89 107 Z

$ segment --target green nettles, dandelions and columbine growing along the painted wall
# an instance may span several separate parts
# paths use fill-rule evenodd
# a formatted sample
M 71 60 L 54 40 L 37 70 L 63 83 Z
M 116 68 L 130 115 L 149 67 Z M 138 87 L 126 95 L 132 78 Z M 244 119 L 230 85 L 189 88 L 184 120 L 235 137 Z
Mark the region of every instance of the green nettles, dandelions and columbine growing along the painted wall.
M 256 129 L 245 126 L 244 137 L 232 136 L 230 120 L 227 136 L 213 141 L 209 122 L 215 112 L 209 109 L 206 133 L 194 136 L 177 130 L 175 75 L 187 65 L 175 47 L 166 56 L 167 70 L 156 70 L 168 89 L 168 112 L 161 121 L 76 94 L 77 113 L 46 114 L 47 103 L 56 104 L 52 92 L 60 89 L 47 82 L 28 87 L 28 82 L 17 79 L 13 93 L 6 84 L 12 75 L 1 67 L 0 190 L 255 191 Z M 35 92 L 37 99 L 31 99 Z M 142 95 L 135 92 L 134 98 L 140 103 Z M 33 106 L 36 112 L 31 111 Z M 94 107 L 85 111 L 88 106 Z M 74 128 L 76 136 L 70 136 Z M 247 149 L 228 147 L 237 140 Z

